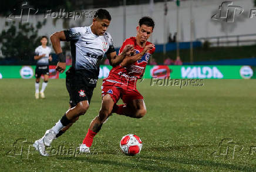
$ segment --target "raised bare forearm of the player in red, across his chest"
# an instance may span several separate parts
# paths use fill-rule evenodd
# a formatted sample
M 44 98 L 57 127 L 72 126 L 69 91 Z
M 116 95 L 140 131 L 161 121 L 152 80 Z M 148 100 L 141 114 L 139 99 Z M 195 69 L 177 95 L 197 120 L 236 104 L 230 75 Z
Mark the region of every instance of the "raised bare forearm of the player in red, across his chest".
M 134 56 L 127 56 L 123 59 L 121 66 L 129 66 L 132 65 L 137 60 L 141 59 L 145 53 L 148 53 L 150 50 L 154 49 L 154 44 L 148 44 L 144 47 L 143 51 L 134 55 Z

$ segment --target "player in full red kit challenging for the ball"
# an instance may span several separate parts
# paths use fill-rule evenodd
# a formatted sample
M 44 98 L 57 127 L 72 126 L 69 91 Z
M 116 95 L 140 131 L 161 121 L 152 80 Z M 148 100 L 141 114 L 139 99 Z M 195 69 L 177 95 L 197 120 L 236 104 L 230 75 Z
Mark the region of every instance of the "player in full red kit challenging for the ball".
M 142 118 L 146 114 L 143 96 L 136 89 L 136 81 L 142 78 L 149 57 L 154 53 L 154 44 L 147 42 L 154 29 L 153 19 L 145 16 L 139 20 L 136 37 L 126 39 L 119 50 L 122 53 L 127 44 L 134 46 L 133 56 L 123 59 L 122 63 L 112 68 L 102 84 L 102 107 L 99 115 L 90 123 L 87 135 L 80 145 L 80 152 L 89 153 L 93 137 L 102 127 L 103 122 L 112 114 Z M 121 98 L 123 105 L 116 105 Z

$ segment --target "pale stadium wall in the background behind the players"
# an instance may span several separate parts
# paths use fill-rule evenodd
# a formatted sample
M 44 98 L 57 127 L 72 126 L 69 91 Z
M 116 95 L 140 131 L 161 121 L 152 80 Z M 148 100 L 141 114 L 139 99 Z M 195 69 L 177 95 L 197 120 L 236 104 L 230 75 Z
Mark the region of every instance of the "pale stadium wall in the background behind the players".
M 243 35 L 248 33 L 255 33 L 256 18 L 250 19 L 250 10 L 254 9 L 252 0 L 233 1 L 234 5 L 242 6 L 244 8 L 244 16 L 239 16 L 242 19 L 235 21 L 235 23 L 228 26 L 230 30 L 227 32 L 221 31 L 221 22 L 213 22 L 211 16 L 217 12 L 218 6 L 221 5 L 219 0 L 214 1 L 196 1 L 193 4 L 193 18 L 194 18 L 194 37 L 210 37 L 210 36 L 227 36 L 227 35 Z M 152 18 L 156 22 L 156 27 L 152 36 L 153 43 L 163 43 L 167 39 L 169 33 L 176 32 L 176 2 L 168 2 L 167 13 L 167 34 L 164 36 L 163 18 L 164 18 L 164 3 L 159 2 L 154 4 Z M 108 32 L 112 35 L 115 46 L 120 47 L 123 42 L 123 6 L 116 8 L 107 8 L 112 15 L 112 22 L 109 26 Z M 256 9 L 256 8 L 255 8 Z M 95 10 L 95 9 L 92 9 Z M 87 10 L 89 11 L 89 10 Z M 150 15 L 150 5 L 130 5 L 126 6 L 126 37 L 136 35 L 136 26 L 138 20 L 144 15 Z M 42 21 L 44 15 L 29 16 L 29 22 L 36 23 Z M 90 25 L 91 18 L 70 20 L 70 26 L 85 26 Z M 0 32 L 4 29 L 6 18 L 0 18 Z M 246 26 L 246 27 L 245 27 Z M 53 25 L 53 19 L 48 18 L 46 25 L 40 30 L 39 35 L 51 35 L 53 32 L 63 30 L 62 19 L 58 19 L 56 25 Z M 190 1 L 181 1 L 180 6 L 180 40 L 190 41 Z M 164 38 L 165 37 L 165 38 Z

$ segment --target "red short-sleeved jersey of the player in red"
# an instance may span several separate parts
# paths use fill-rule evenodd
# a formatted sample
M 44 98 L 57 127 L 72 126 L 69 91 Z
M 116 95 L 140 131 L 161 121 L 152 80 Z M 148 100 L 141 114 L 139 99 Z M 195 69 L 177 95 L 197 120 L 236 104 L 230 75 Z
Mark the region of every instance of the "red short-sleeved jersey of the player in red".
M 142 52 L 144 49 L 136 43 L 135 37 L 130 37 L 123 42 L 123 45 L 119 50 L 119 54 L 122 53 L 127 44 L 133 44 L 136 54 Z M 148 44 L 151 43 L 146 42 L 146 45 Z M 105 80 L 109 82 L 117 82 L 119 84 L 136 84 L 137 79 L 142 78 L 147 66 L 147 62 L 149 61 L 149 57 L 154 53 L 154 50 L 155 49 L 152 49 L 149 51 L 149 53 L 145 53 L 141 59 L 137 60 L 130 66 L 122 67 L 119 65 L 113 67 L 112 70 L 110 70 L 109 76 Z

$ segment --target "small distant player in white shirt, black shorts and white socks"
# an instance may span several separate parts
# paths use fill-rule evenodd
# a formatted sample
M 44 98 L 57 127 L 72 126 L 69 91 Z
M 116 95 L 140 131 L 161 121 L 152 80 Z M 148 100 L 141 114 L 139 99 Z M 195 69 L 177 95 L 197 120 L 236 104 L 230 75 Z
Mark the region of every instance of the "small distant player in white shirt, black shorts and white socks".
M 35 77 L 36 77 L 36 82 L 35 82 L 35 97 L 36 99 L 39 98 L 39 82 L 40 82 L 40 77 L 43 75 L 43 84 L 42 84 L 42 89 L 40 91 L 40 96 L 41 98 L 45 98 L 45 88 L 48 84 L 48 79 L 49 79 L 49 61 L 52 61 L 52 56 L 50 55 L 50 47 L 46 46 L 48 42 L 48 39 L 46 36 L 42 36 L 41 39 L 41 46 L 38 46 L 35 50 L 35 56 L 34 59 L 36 61 L 36 71 L 35 71 Z

